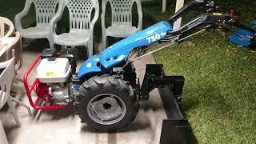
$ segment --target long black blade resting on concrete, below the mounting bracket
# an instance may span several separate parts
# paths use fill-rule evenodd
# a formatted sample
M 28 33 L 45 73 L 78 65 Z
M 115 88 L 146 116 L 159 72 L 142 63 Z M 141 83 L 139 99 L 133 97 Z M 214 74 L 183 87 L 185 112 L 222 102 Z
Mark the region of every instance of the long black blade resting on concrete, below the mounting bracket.
M 169 86 L 158 89 L 167 118 L 162 121 L 160 144 L 189 143 L 189 123 Z

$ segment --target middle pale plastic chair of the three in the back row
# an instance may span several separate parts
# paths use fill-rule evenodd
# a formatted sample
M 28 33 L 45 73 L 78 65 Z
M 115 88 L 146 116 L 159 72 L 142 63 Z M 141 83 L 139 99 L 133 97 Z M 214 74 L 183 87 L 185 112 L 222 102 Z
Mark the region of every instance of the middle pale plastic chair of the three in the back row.
M 55 26 L 62 17 L 65 7 L 70 14 L 70 31 L 57 35 Z M 92 11 L 95 10 L 91 20 Z M 50 21 L 54 44 L 62 46 L 86 46 L 88 56 L 93 56 L 94 24 L 98 19 L 98 0 L 61 0 L 58 11 Z

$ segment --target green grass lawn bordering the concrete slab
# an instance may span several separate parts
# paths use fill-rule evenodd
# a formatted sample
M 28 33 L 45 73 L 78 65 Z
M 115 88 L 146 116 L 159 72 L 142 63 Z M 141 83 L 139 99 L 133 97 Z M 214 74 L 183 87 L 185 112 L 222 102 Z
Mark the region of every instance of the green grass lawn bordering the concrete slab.
M 22 10 L 24 2 L 2 0 L 0 15 L 14 21 L 14 15 Z M 219 2 L 238 10 L 245 22 L 256 19 L 254 0 Z M 170 18 L 174 14 L 174 3 L 168 1 L 168 4 L 166 13 L 162 14 L 160 0 L 143 3 L 143 27 Z M 24 26 L 34 25 L 31 13 L 22 22 Z M 98 20 L 94 33 L 97 42 L 101 42 L 100 29 Z M 228 36 L 210 30 L 154 54 L 156 61 L 164 64 L 166 74 L 186 78 L 182 107 L 193 130 L 194 142 L 256 142 L 256 53 L 231 44 Z M 38 40 L 33 42 L 38 43 Z M 30 44 L 30 41 L 25 43 Z

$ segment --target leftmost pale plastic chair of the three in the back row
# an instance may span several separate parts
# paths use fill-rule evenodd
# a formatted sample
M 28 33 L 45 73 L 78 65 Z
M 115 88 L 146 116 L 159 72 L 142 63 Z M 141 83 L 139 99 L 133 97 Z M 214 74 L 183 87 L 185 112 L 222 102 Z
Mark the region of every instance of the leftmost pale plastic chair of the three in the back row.
M 29 12 L 30 6 L 34 3 L 36 11 L 35 27 L 22 28 L 21 19 Z M 25 7 L 15 16 L 15 26 L 23 38 L 47 38 L 50 47 L 53 47 L 53 38 L 50 35 L 50 20 L 54 17 L 58 0 L 26 0 Z

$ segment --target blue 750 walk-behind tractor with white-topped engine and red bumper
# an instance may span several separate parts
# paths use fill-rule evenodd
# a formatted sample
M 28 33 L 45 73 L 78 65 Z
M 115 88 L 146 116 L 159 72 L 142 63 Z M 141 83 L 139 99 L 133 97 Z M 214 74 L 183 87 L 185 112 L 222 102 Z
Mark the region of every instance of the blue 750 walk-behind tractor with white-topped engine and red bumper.
M 201 10 L 203 14 L 174 30 L 173 23 L 191 10 Z M 235 31 L 234 27 L 242 30 Z M 71 104 L 81 122 L 93 129 L 120 129 L 134 121 L 140 101 L 148 100 L 154 88 L 167 86 L 176 102 L 182 99 L 182 76 L 166 76 L 162 65 L 150 64 L 146 66 L 146 74 L 140 83 L 133 62 L 210 29 L 229 30 L 234 33 L 232 41 L 244 46 L 255 40 L 254 26 L 240 24 L 233 10 L 223 12 L 213 1 L 194 0 L 169 20 L 158 22 L 88 58 L 78 73 L 77 50 L 74 48 L 43 50 L 24 75 L 26 94 L 34 109 L 61 109 Z M 148 50 L 156 43 L 166 45 Z M 37 63 L 36 79 L 29 86 L 28 75 Z M 38 96 L 35 101 L 31 97 L 34 90 Z M 47 104 L 39 105 L 40 101 Z

